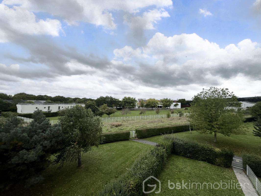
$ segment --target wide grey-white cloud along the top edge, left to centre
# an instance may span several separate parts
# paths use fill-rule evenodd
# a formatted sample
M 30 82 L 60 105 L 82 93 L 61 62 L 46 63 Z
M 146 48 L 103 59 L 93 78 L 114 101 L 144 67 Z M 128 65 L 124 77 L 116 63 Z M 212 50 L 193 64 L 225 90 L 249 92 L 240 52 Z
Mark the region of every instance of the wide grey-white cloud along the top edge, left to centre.
M 170 7 L 171 0 L 144 0 L 144 1 L 84 1 L 84 0 L 68 0 L 64 3 L 63 0 L 4 0 L 3 4 L 7 5 L 22 5 L 23 7 L 41 7 L 43 12 L 58 16 L 67 22 L 69 25 L 78 25 L 79 22 L 88 22 L 96 26 L 102 26 L 107 29 L 115 29 L 116 24 L 112 16 L 112 11 L 124 11 L 128 13 L 139 12 L 140 9 L 156 6 Z M 61 8 L 61 9 L 57 9 Z

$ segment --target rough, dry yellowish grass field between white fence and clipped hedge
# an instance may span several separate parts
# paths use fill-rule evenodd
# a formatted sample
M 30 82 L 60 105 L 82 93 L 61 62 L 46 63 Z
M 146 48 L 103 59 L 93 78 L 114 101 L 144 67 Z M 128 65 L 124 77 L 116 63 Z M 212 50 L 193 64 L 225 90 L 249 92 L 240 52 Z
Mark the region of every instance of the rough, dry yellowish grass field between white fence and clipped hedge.
M 103 131 L 132 131 L 138 128 L 150 128 L 150 127 L 159 127 L 159 126 L 169 126 L 175 124 L 186 124 L 186 117 L 175 117 L 175 118 L 161 118 L 161 119 L 153 119 L 153 120 L 130 120 L 130 121 L 120 121 L 116 122 L 121 124 L 118 127 L 112 126 L 114 123 L 103 123 Z

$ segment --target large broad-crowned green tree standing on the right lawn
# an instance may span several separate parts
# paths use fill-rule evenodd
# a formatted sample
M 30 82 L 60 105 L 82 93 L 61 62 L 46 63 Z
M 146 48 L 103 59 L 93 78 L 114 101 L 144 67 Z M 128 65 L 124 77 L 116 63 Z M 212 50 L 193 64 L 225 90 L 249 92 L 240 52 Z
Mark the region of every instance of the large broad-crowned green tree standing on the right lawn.
M 215 142 L 217 133 L 230 136 L 244 132 L 243 112 L 230 107 L 237 104 L 236 98 L 228 89 L 203 89 L 193 97 L 190 114 L 193 129 L 200 133 L 214 133 Z

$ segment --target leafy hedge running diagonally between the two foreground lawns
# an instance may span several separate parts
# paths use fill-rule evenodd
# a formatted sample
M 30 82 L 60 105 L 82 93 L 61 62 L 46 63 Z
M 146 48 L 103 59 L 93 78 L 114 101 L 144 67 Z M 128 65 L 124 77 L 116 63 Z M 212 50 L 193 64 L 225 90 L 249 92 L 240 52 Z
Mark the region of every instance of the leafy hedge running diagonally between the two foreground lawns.
M 122 177 L 107 184 L 99 196 L 144 195 L 143 181 L 150 176 L 158 176 L 166 161 L 165 149 L 160 146 L 154 147 L 142 154 Z M 148 187 L 147 184 L 155 184 L 155 182 L 153 183 L 151 178 L 146 181 L 145 187 Z

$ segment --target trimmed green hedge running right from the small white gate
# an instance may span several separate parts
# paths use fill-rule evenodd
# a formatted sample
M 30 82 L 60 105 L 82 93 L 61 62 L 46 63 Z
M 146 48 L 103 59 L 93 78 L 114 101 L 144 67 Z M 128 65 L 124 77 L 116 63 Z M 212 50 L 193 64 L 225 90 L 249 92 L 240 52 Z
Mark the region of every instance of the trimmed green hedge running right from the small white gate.
M 182 131 L 189 131 L 189 125 L 173 125 L 166 127 L 136 129 L 136 134 L 138 138 L 145 138 L 162 134 L 177 133 Z

